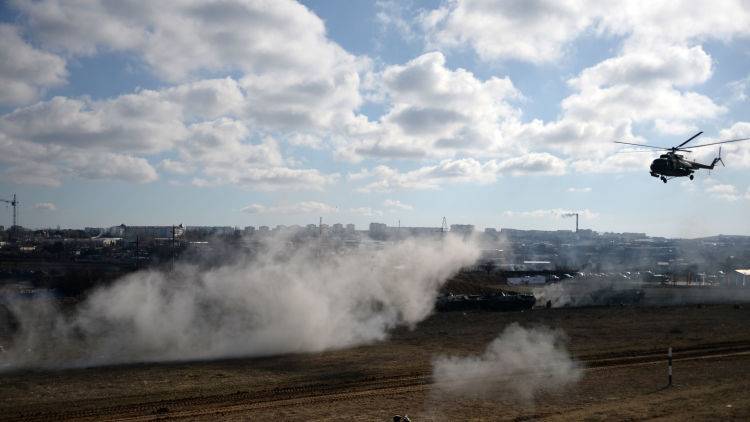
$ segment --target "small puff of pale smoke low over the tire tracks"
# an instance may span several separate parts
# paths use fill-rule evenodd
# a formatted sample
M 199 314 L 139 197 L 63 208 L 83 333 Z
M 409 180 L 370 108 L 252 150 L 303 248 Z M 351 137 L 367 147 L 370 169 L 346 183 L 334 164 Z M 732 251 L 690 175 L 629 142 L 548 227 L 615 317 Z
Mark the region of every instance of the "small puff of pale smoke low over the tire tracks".
M 441 356 L 433 361 L 437 391 L 457 396 L 503 393 L 532 401 L 542 391 L 576 383 L 582 371 L 570 357 L 564 336 L 546 328 L 513 323 L 480 356 Z

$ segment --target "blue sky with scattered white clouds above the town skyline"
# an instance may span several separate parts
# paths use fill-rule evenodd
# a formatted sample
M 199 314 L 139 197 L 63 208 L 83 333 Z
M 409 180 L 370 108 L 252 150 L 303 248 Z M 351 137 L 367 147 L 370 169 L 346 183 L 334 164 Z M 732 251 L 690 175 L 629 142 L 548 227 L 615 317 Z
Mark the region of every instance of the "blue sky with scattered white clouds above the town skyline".
M 24 226 L 750 235 L 750 142 L 666 185 L 612 143 L 750 136 L 747 1 L 1 4 Z

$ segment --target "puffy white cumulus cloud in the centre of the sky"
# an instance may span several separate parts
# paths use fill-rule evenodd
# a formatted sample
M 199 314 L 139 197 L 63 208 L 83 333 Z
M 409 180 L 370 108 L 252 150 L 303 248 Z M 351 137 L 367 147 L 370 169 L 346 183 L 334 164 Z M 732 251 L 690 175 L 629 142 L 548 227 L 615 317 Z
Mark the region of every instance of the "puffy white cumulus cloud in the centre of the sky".
M 516 119 L 521 98 L 509 78 L 480 80 L 446 67 L 440 52 L 425 53 L 380 75 L 388 112 L 368 125 L 352 126 L 339 145 L 348 159 L 452 157 L 458 152 L 500 155 L 512 148 L 501 125 Z

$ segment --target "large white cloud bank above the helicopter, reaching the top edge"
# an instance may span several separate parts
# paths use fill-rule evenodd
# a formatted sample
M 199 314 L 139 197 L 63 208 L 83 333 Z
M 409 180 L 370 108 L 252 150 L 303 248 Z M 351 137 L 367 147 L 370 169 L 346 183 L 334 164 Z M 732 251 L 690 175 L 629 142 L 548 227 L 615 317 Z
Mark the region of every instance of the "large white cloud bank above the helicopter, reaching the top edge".
M 577 171 L 615 166 L 585 162 L 605 159 L 613 140 L 643 141 L 634 127 L 658 134 L 687 135 L 727 113 L 695 87 L 707 82 L 714 60 L 701 43 L 731 41 L 750 34 L 750 9 L 741 0 L 716 7 L 695 1 L 634 5 L 604 1 L 453 0 L 421 18 L 427 48 L 473 49 L 484 61 L 555 62 L 575 51 L 579 37 L 615 37 L 614 57 L 568 80 L 574 92 L 558 118 L 528 122 L 509 119 L 500 134 L 505 144 L 532 151 L 560 152 L 581 161 Z

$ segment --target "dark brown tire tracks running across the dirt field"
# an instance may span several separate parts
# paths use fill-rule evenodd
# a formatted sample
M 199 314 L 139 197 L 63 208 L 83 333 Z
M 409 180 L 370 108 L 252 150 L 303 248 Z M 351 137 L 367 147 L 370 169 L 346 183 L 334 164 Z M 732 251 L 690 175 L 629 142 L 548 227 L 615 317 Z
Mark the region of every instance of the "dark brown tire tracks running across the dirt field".
M 673 360 L 719 359 L 750 356 L 750 341 L 707 343 L 673 350 Z M 634 350 L 579 356 L 584 370 L 666 363 L 666 350 Z M 273 407 L 406 394 L 433 385 L 429 372 L 373 376 L 326 384 L 284 386 L 266 390 L 237 391 L 181 399 L 150 401 L 90 409 L 55 411 L 8 411 L 0 420 L 128 420 L 194 418 Z M 85 405 L 85 403 L 83 403 Z M 64 404 L 61 404 L 64 407 Z

